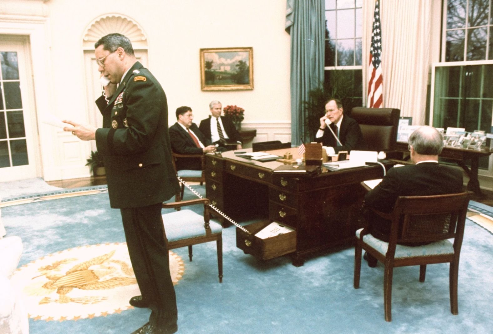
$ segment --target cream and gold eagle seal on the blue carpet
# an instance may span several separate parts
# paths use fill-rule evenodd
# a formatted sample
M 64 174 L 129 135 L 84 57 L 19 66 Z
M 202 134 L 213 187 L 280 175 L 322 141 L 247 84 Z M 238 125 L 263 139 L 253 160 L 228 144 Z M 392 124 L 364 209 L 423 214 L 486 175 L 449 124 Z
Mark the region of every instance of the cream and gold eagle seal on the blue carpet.
M 184 273 L 182 259 L 170 253 L 176 285 Z M 12 282 L 23 291 L 29 316 L 64 321 L 106 316 L 133 308 L 140 295 L 126 243 L 79 246 L 49 254 L 17 269 Z

